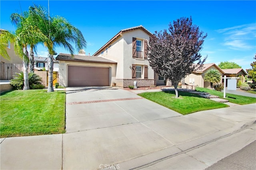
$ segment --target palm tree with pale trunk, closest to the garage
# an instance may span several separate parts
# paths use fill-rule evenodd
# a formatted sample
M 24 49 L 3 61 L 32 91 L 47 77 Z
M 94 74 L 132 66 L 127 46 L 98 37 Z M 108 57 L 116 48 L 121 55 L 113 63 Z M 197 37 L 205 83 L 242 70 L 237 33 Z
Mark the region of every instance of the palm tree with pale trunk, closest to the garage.
M 64 47 L 71 55 L 74 54 L 74 47 L 76 45 L 77 51 L 86 47 L 86 40 L 82 32 L 71 25 L 65 18 L 60 16 L 50 17 L 47 15 L 46 9 L 34 6 L 34 12 L 38 14 L 40 20 L 38 25 L 41 31 L 48 37 L 48 41 L 44 45 L 48 48 L 48 92 L 54 92 L 53 89 L 53 55 L 56 55 L 55 47 Z

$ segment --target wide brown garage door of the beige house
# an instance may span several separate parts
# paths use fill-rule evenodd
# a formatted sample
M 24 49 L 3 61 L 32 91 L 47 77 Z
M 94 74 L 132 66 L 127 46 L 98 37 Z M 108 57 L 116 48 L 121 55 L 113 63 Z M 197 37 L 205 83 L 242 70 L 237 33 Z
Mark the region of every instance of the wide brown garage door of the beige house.
M 68 66 L 68 86 L 109 86 L 109 68 Z

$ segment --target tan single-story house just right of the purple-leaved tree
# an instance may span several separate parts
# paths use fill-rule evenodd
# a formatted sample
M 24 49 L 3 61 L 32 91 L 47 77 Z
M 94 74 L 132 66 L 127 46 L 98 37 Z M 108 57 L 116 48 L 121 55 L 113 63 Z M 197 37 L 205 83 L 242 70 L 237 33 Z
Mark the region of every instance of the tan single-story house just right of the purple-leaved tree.
M 201 69 L 193 71 L 191 74 L 185 77 L 185 84 L 190 86 L 210 88 L 210 82 L 204 81 L 204 74 L 210 69 L 216 69 L 220 72 L 220 74 L 224 74 L 224 72 L 216 64 L 204 64 Z M 220 80 L 220 82 L 222 82 L 222 80 Z

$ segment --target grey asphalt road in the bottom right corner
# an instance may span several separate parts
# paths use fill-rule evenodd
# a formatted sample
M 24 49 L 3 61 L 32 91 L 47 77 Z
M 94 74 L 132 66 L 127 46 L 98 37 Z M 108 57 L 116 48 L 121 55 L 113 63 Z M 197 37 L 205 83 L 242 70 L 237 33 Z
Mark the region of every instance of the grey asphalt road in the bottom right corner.
M 206 170 L 221 169 L 256 170 L 256 141 L 206 168 Z

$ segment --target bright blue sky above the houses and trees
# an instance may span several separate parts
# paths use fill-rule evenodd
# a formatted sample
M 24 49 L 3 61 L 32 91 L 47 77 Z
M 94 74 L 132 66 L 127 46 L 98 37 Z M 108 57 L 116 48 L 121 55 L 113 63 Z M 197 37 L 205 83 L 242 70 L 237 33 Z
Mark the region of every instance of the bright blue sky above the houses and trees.
M 48 0 L 0 0 L 0 27 L 14 31 L 10 14 L 34 4 L 48 8 Z M 87 41 L 86 54 L 94 54 L 121 29 L 143 25 L 151 33 L 192 16 L 193 24 L 207 33 L 201 54 L 205 63 L 232 61 L 251 68 L 256 53 L 256 1 L 71 1 L 50 0 L 50 15 L 62 16 L 80 29 Z M 37 47 L 38 55 L 47 49 Z M 57 53 L 68 53 L 56 48 Z

